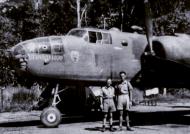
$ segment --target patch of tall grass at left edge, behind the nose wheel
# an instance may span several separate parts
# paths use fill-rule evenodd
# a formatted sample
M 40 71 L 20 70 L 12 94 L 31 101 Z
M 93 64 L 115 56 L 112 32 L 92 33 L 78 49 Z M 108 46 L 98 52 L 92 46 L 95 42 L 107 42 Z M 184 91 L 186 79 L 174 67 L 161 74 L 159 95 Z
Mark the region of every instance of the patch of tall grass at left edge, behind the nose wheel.
M 27 111 L 37 102 L 38 92 L 35 88 L 28 89 L 25 87 L 8 86 L 1 89 L 0 111 Z

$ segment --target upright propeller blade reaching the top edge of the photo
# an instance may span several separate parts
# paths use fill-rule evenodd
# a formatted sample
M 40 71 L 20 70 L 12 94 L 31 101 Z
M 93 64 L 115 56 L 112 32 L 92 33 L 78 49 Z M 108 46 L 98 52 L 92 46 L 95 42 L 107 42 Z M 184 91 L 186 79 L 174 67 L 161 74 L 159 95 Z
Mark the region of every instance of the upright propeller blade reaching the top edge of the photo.
M 154 54 L 153 47 L 152 47 L 153 22 L 152 22 L 151 8 L 150 8 L 150 4 L 148 0 L 144 1 L 144 8 L 145 8 L 146 37 L 148 41 L 148 46 L 150 48 L 150 54 Z

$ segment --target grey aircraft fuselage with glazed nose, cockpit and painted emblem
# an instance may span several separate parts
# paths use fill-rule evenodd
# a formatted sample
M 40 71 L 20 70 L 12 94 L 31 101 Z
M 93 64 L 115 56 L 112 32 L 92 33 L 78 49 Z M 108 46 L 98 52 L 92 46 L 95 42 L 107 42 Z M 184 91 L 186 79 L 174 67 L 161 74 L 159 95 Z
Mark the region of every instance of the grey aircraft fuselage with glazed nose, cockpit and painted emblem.
M 140 58 L 146 44 L 145 36 L 137 33 L 80 28 L 65 36 L 21 42 L 13 51 L 23 58 L 20 70 L 31 75 L 99 82 L 108 77 L 118 81 L 120 71 L 133 78 L 141 69 Z

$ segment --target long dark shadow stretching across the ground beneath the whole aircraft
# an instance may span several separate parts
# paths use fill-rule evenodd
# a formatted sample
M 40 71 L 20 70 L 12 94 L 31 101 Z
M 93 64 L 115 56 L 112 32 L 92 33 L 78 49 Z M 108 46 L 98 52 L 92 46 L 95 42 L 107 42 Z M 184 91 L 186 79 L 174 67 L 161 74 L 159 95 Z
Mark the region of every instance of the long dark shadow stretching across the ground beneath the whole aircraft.
M 173 127 L 178 127 L 179 125 L 190 125 L 190 116 L 188 115 L 190 111 L 172 111 L 172 112 L 132 112 L 130 113 L 131 126 L 149 126 L 149 125 L 164 125 L 164 124 L 176 124 Z M 82 122 L 93 122 L 101 121 L 101 114 L 91 114 L 90 116 L 63 116 L 61 124 L 71 124 L 71 123 L 82 123 Z M 114 127 L 118 126 L 118 113 L 115 114 Z M 101 124 L 100 124 L 101 125 Z M 18 121 L 18 122 L 8 122 L 0 123 L 1 127 L 27 127 L 27 126 L 37 126 L 38 128 L 44 128 L 40 120 L 35 121 Z M 100 127 L 85 128 L 88 131 L 101 131 Z

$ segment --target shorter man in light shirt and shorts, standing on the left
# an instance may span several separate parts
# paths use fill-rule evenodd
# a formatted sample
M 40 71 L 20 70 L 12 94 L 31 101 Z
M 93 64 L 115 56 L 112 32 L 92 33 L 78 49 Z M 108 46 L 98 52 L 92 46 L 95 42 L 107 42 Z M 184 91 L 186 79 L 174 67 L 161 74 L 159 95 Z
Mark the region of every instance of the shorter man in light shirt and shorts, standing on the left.
M 116 111 L 116 107 L 114 104 L 114 97 L 115 97 L 115 89 L 112 87 L 112 80 L 111 78 L 107 79 L 107 85 L 105 87 L 102 87 L 102 95 L 100 98 L 101 101 L 101 109 L 104 113 L 104 118 L 103 118 L 103 127 L 102 127 L 102 132 L 106 130 L 106 119 L 109 113 L 109 120 L 110 120 L 110 131 L 114 131 L 112 123 L 113 123 L 113 118 L 112 118 L 112 113 Z

